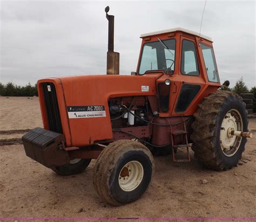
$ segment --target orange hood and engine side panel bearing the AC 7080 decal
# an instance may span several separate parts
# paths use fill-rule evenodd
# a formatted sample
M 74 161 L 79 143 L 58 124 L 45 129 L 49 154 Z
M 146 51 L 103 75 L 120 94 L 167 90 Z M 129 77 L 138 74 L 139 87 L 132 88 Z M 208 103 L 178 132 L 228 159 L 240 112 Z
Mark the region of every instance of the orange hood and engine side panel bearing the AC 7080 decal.
M 89 75 L 61 78 L 73 146 L 113 137 L 108 101 L 133 95 L 156 95 L 156 78 L 128 75 Z

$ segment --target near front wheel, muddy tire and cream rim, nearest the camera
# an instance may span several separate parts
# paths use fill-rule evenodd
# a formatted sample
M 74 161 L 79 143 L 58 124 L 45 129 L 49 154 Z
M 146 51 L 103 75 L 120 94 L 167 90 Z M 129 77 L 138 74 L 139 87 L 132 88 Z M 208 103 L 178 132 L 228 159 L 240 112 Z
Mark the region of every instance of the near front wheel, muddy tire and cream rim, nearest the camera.
M 149 149 L 139 142 L 119 140 L 97 158 L 93 184 L 100 197 L 118 206 L 139 199 L 149 187 L 153 172 Z

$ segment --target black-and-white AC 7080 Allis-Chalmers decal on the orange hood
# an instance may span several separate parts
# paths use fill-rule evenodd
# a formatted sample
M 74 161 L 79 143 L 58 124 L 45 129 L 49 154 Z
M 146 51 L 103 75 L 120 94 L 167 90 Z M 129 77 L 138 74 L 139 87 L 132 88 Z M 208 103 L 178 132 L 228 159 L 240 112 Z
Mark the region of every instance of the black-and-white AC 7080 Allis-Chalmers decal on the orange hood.
M 68 106 L 69 119 L 105 117 L 104 106 Z

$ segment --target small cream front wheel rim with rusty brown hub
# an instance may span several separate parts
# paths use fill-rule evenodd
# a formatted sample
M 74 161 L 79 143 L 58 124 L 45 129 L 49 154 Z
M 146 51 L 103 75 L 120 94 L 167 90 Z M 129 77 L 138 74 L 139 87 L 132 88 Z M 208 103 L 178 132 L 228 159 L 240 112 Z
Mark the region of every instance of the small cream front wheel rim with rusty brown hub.
M 120 170 L 118 183 L 122 190 L 130 192 L 135 190 L 142 182 L 144 170 L 138 161 L 130 161 Z

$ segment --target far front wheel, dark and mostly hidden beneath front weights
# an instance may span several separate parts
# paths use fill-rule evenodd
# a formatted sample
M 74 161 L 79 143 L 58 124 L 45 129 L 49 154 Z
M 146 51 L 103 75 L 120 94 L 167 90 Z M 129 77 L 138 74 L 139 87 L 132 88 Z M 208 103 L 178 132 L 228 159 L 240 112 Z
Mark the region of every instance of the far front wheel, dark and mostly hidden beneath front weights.
M 91 159 L 70 159 L 70 163 L 59 167 L 51 168 L 58 175 L 69 176 L 73 174 L 79 174 L 85 170 L 90 164 Z

